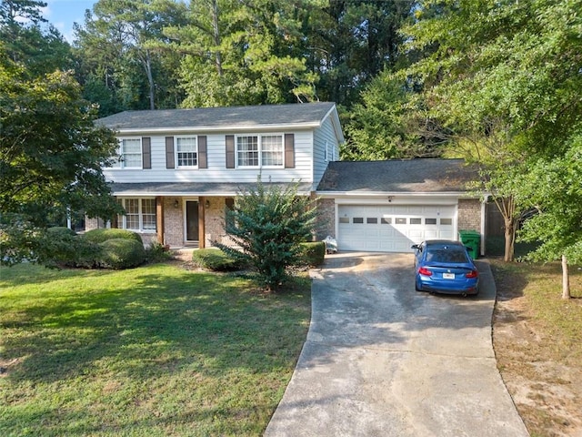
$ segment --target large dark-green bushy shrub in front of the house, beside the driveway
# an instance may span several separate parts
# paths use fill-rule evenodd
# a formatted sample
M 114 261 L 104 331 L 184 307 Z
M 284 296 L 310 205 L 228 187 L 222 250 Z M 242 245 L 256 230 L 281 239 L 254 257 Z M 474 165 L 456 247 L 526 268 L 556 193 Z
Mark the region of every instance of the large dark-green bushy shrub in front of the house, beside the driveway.
M 298 184 L 286 188 L 263 184 L 242 190 L 235 206 L 226 209 L 226 233 L 235 247 L 216 246 L 246 260 L 256 269 L 267 290 L 286 279 L 286 269 L 300 259 L 300 243 L 315 227 L 316 208 L 311 198 L 297 196 Z

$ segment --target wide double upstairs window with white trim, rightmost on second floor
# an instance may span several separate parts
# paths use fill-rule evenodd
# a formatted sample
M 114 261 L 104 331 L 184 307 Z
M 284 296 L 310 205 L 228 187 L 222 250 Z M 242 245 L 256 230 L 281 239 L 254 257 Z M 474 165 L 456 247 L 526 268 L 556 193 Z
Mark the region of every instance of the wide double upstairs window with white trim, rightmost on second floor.
M 283 135 L 236 137 L 236 167 L 283 167 Z

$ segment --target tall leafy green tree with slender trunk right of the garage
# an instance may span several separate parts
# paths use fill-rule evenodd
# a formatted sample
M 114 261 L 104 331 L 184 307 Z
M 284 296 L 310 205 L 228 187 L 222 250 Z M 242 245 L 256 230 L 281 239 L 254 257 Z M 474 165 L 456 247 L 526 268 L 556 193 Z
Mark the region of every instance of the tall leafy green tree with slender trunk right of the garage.
M 480 166 L 479 188 L 506 222 L 507 260 L 530 207 L 528 168 L 564 156 L 582 130 L 581 9 L 581 0 L 427 0 L 403 29 L 419 58 L 399 76 L 419 90 L 452 153 Z

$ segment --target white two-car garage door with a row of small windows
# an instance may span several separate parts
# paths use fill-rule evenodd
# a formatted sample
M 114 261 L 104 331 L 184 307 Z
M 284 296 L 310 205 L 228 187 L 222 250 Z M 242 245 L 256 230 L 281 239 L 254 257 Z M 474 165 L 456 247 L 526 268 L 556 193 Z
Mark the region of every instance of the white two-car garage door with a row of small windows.
M 424 239 L 456 239 L 456 206 L 340 205 L 340 250 L 409 252 Z

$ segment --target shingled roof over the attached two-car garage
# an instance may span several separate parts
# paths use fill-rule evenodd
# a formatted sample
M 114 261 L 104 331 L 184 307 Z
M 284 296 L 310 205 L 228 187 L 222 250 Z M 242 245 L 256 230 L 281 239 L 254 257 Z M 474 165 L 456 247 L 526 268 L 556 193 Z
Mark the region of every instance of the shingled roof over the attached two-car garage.
M 477 170 L 463 159 L 407 159 L 387 161 L 330 162 L 318 192 L 410 192 L 467 191 Z

